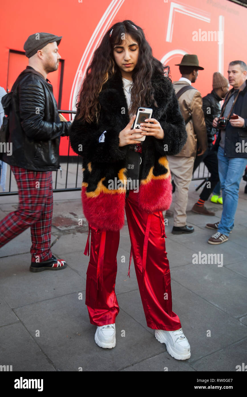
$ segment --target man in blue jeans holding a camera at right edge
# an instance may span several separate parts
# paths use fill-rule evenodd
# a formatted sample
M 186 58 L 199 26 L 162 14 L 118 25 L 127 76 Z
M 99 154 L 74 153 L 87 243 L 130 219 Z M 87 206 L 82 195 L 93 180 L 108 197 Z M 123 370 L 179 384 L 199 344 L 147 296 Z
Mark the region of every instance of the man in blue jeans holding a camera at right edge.
M 234 227 L 237 210 L 239 184 L 247 165 L 247 66 L 243 61 L 230 62 L 228 80 L 232 89 L 226 95 L 222 116 L 226 128 L 216 117 L 213 127 L 220 127 L 214 149 L 218 150 L 218 172 L 222 189 L 223 211 L 220 222 L 207 224 L 210 229 L 218 229 L 208 240 L 209 244 L 222 244 Z M 234 116 L 234 118 L 230 118 Z

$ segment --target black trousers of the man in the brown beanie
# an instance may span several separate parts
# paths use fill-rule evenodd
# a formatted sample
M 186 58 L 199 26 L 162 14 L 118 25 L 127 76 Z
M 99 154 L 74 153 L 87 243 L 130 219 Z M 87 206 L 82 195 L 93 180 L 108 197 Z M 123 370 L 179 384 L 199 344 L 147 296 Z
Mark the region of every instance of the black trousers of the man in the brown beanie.
M 195 170 L 202 161 L 204 162 L 205 166 L 207 167 L 207 169 L 211 174 L 208 180 L 210 182 L 210 185 L 206 183 L 203 188 L 203 191 L 200 194 L 201 200 L 206 201 L 213 192 L 214 187 L 217 185 L 218 181 L 220 180 L 218 174 L 217 152 L 208 148 L 206 152 L 203 153 L 201 156 L 196 156 L 193 167 L 193 173 L 195 172 Z M 208 185 L 210 187 L 207 187 Z

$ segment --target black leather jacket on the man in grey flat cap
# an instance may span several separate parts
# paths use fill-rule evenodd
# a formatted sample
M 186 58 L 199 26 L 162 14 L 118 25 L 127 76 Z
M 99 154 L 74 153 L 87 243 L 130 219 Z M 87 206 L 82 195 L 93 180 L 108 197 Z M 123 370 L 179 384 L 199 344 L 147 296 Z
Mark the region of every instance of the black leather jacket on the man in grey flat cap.
M 69 135 L 71 122 L 59 121 L 52 85 L 33 67 L 27 66 L 12 90 L 8 114 L 12 154 L 4 153 L 2 160 L 28 170 L 57 170 L 60 137 Z M 2 103 L 4 105 L 4 97 Z

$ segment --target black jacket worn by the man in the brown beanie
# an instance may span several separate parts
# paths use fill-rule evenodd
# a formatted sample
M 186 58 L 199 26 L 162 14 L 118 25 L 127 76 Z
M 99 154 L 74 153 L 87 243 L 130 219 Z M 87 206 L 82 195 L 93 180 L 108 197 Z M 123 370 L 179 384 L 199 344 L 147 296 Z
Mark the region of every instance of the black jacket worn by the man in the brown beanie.
M 210 94 L 203 97 L 203 113 L 207 127 L 207 140 L 209 149 L 213 147 L 214 134 L 217 133 L 212 125 L 213 119 L 220 116 L 220 101 L 222 98 L 216 94 L 214 90 Z

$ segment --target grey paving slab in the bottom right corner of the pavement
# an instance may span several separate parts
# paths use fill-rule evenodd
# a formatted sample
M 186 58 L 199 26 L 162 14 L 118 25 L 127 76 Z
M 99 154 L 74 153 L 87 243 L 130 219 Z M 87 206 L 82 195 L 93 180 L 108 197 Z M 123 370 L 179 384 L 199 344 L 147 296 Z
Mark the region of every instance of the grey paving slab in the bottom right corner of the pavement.
M 236 342 L 231 346 L 226 347 L 225 349 L 216 351 L 211 355 L 203 357 L 200 360 L 191 363 L 191 366 L 195 368 L 196 371 L 236 372 L 236 370 L 239 369 L 239 367 L 237 366 L 240 365 L 242 370 L 242 367 L 245 367 L 246 365 L 246 351 L 247 351 L 247 338 L 243 339 L 242 341 Z M 246 368 L 244 369 L 245 371 Z M 217 374 L 215 374 L 214 379 L 217 378 L 218 376 Z M 224 378 L 227 377 L 224 376 Z

